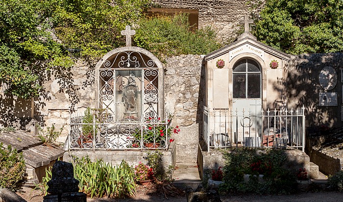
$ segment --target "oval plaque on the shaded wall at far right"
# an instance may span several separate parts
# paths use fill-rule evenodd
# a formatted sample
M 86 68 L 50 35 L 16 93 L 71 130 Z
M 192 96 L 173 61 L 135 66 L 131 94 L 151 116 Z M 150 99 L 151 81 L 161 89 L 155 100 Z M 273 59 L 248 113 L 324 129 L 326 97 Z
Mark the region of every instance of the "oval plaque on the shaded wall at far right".
M 332 90 L 337 84 L 337 72 L 333 67 L 326 66 L 319 72 L 319 84 L 324 90 Z

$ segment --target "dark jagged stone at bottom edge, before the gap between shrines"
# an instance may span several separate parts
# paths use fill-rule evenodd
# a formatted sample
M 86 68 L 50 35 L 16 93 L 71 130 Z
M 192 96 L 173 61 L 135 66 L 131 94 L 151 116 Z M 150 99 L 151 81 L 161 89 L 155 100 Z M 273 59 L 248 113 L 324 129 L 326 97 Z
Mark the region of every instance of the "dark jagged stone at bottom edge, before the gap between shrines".
M 221 202 L 219 193 L 214 186 L 209 190 L 205 190 L 201 185 L 194 191 L 191 187 L 186 188 L 187 202 Z

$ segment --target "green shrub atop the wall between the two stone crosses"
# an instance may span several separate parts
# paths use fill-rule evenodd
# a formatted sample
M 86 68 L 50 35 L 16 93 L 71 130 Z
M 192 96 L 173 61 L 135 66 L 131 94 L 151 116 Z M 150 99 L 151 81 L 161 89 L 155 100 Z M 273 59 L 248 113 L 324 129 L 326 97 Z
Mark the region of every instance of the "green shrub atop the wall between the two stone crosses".
M 156 55 L 165 57 L 180 54 L 207 54 L 220 47 L 210 27 L 190 31 L 186 14 L 173 17 L 148 17 L 141 19 L 133 42 Z

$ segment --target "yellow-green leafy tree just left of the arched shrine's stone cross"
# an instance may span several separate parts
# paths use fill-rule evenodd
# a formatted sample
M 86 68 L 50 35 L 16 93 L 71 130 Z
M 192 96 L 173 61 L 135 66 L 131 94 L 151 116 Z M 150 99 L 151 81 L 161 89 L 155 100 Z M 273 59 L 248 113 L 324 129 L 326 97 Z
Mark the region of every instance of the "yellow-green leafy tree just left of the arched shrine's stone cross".
M 95 59 L 125 45 L 121 30 L 134 25 L 150 0 L 63 0 L 54 17 L 56 35 L 82 57 Z

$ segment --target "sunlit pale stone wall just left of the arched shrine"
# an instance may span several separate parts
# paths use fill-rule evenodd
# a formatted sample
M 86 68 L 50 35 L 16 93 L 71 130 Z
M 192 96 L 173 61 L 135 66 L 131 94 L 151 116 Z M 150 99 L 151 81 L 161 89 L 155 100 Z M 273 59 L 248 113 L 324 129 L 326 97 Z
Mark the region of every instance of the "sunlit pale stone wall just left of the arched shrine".
M 53 74 L 51 80 L 44 84 L 44 90 L 34 102 L 35 118 L 49 127 L 55 124 L 56 130 L 63 127 L 58 141 L 64 142 L 69 131 L 71 110 L 96 108 L 96 92 L 94 68 L 79 60 L 68 74 Z

